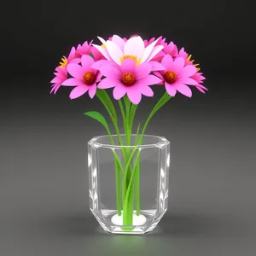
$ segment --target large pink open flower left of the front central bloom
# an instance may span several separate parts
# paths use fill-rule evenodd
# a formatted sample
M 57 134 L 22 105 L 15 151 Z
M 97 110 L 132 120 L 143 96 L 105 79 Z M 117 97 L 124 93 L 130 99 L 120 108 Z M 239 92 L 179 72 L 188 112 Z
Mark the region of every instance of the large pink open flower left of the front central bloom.
M 73 78 L 67 79 L 62 85 L 76 86 L 70 93 L 71 99 L 84 95 L 87 90 L 89 91 L 91 99 L 95 96 L 96 83 L 101 80 L 102 74 L 91 67 L 94 62 L 90 55 L 82 55 L 82 66 L 77 63 L 67 65 L 67 72 L 70 73 Z

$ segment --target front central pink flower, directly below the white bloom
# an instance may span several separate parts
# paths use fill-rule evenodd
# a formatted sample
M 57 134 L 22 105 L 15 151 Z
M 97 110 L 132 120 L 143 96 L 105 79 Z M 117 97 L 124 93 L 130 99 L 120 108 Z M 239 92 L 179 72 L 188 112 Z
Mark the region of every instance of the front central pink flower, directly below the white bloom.
M 160 83 L 161 79 L 149 74 L 151 65 L 147 62 L 135 65 L 131 59 L 125 59 L 121 65 L 109 62 L 108 65 L 102 65 L 101 73 L 105 79 L 98 84 L 100 89 L 113 88 L 113 98 L 119 100 L 127 96 L 134 104 L 138 104 L 142 95 L 154 96 L 153 90 L 148 86 Z

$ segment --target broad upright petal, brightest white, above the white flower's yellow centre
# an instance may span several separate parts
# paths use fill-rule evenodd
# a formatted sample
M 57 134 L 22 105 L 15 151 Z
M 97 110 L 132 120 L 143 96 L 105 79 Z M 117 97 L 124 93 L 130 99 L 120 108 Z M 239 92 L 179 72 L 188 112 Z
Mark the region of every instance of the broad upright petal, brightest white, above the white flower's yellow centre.
M 125 43 L 124 47 L 124 55 L 135 55 L 137 59 L 140 59 L 143 55 L 143 51 L 145 49 L 145 44 L 143 42 L 143 38 L 135 37 L 130 38 Z

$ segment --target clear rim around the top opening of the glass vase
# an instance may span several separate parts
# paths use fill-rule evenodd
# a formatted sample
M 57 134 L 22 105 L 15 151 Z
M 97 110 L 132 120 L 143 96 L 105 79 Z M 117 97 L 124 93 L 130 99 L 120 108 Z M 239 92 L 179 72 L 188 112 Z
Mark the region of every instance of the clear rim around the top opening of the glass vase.
M 131 134 L 131 137 L 136 137 L 136 134 Z M 150 134 L 144 134 L 143 138 L 152 138 L 152 139 L 156 139 L 157 141 L 155 143 L 143 143 L 142 145 L 113 145 L 111 143 L 102 143 L 99 142 L 104 138 L 109 137 L 108 134 L 106 135 L 102 135 L 102 136 L 97 136 L 97 137 L 93 137 L 92 139 L 90 139 L 89 144 L 92 146 L 95 146 L 96 148 L 137 148 L 137 149 L 141 149 L 141 148 L 164 148 L 166 147 L 166 145 L 170 144 L 170 142 L 166 139 L 166 137 L 161 137 L 161 136 L 156 136 L 156 135 L 150 135 Z M 112 137 L 118 137 L 117 134 L 113 134 Z M 120 137 L 125 137 L 125 134 L 120 134 Z

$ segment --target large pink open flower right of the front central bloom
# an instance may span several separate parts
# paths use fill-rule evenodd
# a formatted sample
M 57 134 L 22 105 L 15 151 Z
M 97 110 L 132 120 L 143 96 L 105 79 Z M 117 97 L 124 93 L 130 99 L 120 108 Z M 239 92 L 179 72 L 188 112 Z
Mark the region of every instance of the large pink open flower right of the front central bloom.
M 196 67 L 193 65 L 184 66 L 185 61 L 182 57 L 173 61 L 171 55 L 165 55 L 161 64 L 166 67 L 166 70 L 155 72 L 155 74 L 163 80 L 161 84 L 165 84 L 167 93 L 170 96 L 175 96 L 176 92 L 179 91 L 184 96 L 191 97 L 192 91 L 186 84 L 198 84 L 194 79 L 191 79 L 196 73 Z

